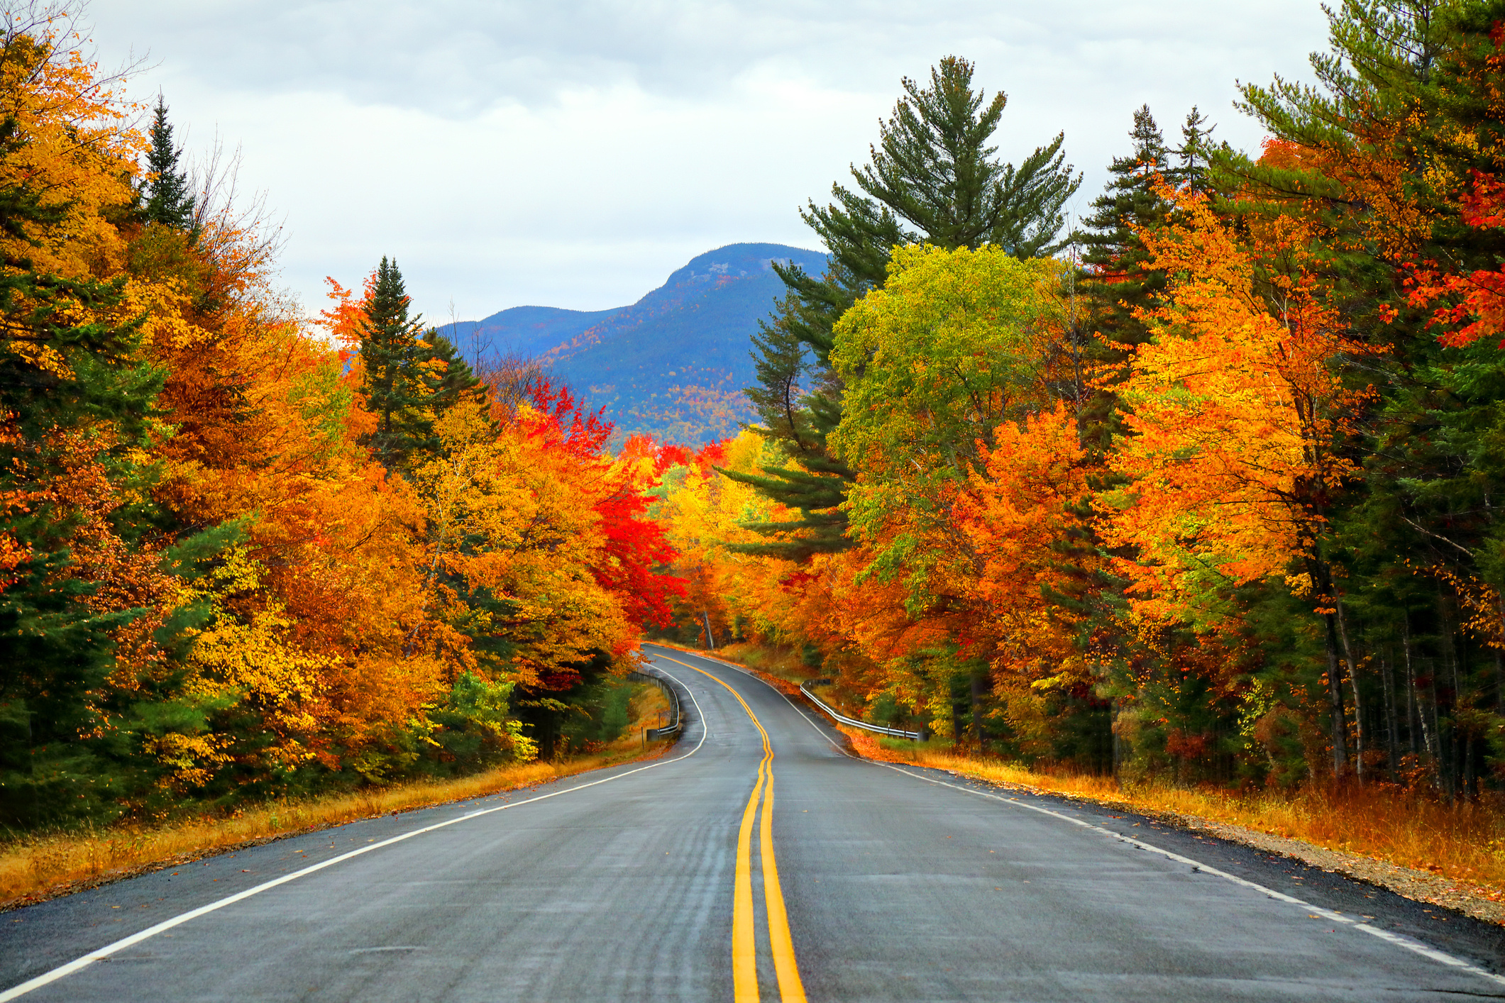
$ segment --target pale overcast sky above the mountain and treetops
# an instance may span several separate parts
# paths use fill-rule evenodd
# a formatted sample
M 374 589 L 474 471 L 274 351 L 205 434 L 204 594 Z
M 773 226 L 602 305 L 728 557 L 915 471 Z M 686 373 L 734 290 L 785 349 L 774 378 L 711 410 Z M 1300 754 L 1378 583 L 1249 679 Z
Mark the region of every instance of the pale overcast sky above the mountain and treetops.
M 1055 132 L 1087 180 L 1148 102 L 1255 149 L 1236 81 L 1306 78 L 1317 0 L 93 0 L 188 152 L 218 134 L 318 305 L 397 259 L 430 320 L 638 299 L 737 241 L 817 247 L 796 209 L 867 158 L 901 77 L 975 60 L 1001 153 Z

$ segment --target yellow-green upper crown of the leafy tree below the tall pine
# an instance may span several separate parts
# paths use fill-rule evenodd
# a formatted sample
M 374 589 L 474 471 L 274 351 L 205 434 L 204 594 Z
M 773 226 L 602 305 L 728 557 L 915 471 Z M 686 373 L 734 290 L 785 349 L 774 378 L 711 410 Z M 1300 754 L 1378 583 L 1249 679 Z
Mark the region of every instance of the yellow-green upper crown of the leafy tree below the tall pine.
M 993 432 L 1046 400 L 1044 353 L 1060 329 L 1061 268 L 999 247 L 895 248 L 888 284 L 837 323 L 832 365 L 846 385 L 831 445 L 865 477 L 849 489 L 853 535 L 897 525 L 876 565 L 926 568 L 911 552 L 923 523 L 950 519 L 948 487 L 965 484 Z

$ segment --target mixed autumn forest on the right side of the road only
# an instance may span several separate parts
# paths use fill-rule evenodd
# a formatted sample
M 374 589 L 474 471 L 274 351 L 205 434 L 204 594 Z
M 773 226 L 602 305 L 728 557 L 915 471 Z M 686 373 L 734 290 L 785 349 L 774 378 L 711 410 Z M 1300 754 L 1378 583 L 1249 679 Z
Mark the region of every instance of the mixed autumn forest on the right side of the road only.
M 1497 789 L 1505 5 L 1329 23 L 1260 150 L 1144 107 L 1079 221 L 1063 137 L 906 80 L 671 520 L 715 629 L 1040 768 Z

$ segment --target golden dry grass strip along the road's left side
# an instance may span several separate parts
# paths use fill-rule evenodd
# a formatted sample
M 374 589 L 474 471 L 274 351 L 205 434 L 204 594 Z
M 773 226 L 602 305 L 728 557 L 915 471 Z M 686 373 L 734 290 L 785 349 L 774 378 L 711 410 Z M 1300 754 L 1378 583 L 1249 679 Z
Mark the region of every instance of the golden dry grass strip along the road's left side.
M 197 817 L 164 826 L 32 833 L 0 844 L 0 910 L 29 905 L 134 874 L 345 823 L 485 797 L 560 777 L 649 759 L 667 743 L 644 743 L 668 701 L 638 686 L 628 702 L 631 722 L 616 741 L 560 762 L 521 762 L 464 777 L 414 780 L 346 794 L 248 805 L 230 815 Z

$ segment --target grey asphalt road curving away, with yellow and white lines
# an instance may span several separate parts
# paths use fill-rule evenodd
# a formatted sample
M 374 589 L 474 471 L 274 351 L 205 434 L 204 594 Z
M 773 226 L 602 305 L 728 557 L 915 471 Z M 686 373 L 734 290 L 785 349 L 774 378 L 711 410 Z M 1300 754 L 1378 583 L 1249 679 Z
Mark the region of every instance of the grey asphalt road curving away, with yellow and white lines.
M 763 683 L 650 654 L 694 698 L 668 756 L 0 914 L 0 1003 L 1505 998 L 1496 926 L 856 761 Z

